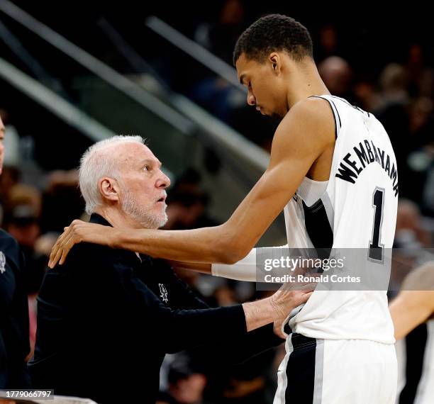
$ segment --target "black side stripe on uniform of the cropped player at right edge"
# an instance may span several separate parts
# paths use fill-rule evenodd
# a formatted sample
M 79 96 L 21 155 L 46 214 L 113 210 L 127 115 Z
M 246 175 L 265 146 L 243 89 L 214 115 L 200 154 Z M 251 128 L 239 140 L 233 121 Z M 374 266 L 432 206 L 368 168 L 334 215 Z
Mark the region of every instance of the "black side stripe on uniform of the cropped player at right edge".
M 406 385 L 399 395 L 399 404 L 413 404 L 422 378 L 428 328 L 418 325 L 406 336 Z

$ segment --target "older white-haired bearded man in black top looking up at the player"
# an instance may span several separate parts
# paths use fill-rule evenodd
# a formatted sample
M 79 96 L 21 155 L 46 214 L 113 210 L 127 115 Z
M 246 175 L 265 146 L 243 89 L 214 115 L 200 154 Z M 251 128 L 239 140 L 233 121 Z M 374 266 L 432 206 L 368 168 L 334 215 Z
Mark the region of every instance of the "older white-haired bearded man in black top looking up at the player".
M 160 168 L 140 137 L 117 136 L 90 147 L 79 182 L 91 223 L 164 225 L 170 181 Z M 164 262 L 82 243 L 45 276 L 29 364 L 33 384 L 99 403 L 154 403 L 165 353 L 208 343 L 211 355 L 223 342 L 228 357 L 261 352 L 282 341 L 270 323 L 310 294 L 279 291 L 254 303 L 208 308 Z

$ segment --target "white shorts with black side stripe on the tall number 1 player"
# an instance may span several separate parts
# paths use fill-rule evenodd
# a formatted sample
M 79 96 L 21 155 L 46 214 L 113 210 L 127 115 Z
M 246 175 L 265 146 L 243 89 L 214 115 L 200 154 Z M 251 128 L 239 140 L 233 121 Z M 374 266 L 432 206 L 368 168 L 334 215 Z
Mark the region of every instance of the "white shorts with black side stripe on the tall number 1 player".
M 394 344 L 286 338 L 274 404 L 394 404 Z

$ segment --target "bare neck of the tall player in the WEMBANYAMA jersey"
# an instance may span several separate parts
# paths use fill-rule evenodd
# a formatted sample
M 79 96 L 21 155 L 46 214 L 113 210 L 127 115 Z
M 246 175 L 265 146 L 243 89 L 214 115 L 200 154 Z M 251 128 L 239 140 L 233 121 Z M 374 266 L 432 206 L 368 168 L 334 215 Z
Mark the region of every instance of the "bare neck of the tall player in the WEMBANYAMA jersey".
M 308 97 L 330 94 L 314 63 L 306 67 L 306 69 L 300 69 L 296 74 L 293 74 L 288 89 L 287 102 L 289 108 Z

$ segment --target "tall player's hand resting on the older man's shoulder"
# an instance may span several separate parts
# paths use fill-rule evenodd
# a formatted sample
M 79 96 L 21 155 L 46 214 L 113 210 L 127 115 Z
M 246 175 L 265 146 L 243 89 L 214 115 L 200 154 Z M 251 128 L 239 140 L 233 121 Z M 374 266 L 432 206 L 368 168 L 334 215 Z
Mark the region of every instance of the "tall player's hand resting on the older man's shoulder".
M 70 249 L 79 242 L 92 242 L 94 244 L 111 246 L 111 235 L 115 230 L 109 226 L 74 220 L 60 235 L 52 247 L 48 266 L 54 268 L 57 262 L 65 262 Z

